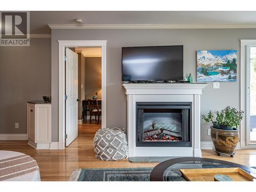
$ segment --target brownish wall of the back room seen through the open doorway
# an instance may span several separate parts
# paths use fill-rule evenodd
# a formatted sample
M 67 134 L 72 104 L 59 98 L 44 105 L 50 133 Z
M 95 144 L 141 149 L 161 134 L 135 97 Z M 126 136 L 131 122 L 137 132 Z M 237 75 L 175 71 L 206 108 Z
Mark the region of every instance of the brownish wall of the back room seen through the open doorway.
M 85 98 L 92 99 L 98 93 L 101 99 L 101 57 L 86 57 Z

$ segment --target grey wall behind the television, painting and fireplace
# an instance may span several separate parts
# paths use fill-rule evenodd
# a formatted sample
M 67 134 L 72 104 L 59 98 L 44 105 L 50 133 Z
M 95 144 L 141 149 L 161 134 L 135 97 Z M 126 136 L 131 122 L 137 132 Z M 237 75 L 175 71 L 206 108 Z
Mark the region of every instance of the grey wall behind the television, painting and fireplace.
M 57 40 L 108 40 L 106 46 L 106 126 L 126 128 L 126 101 L 121 81 L 121 48 L 125 46 L 184 45 L 184 75 L 196 79 L 196 51 L 238 50 L 238 81 L 212 83 L 203 90 L 201 114 L 224 106 L 240 108 L 240 42 L 255 39 L 256 29 L 53 29 L 52 30 L 52 139 L 58 140 L 58 42 Z M 209 124 L 201 120 L 201 140 Z

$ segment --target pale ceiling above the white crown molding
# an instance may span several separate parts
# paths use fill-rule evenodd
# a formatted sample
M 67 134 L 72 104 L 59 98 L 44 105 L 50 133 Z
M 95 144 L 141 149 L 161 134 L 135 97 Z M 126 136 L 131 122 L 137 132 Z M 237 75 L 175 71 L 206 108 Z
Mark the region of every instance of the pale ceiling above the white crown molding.
M 31 11 L 31 34 L 50 34 L 48 25 L 246 25 L 256 11 Z

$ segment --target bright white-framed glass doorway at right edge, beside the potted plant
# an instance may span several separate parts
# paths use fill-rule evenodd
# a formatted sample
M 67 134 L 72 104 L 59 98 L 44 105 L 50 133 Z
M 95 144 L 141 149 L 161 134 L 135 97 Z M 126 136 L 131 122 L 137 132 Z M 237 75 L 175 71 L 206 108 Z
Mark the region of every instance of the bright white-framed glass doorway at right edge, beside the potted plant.
M 256 148 L 256 39 L 241 39 L 241 148 Z

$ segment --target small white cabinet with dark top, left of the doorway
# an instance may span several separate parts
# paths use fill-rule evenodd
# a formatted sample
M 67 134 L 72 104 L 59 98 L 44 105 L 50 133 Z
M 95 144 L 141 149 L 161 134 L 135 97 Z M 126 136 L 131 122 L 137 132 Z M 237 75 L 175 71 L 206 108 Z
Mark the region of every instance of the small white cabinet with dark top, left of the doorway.
M 27 103 L 28 144 L 36 149 L 49 149 L 51 143 L 51 103 Z

